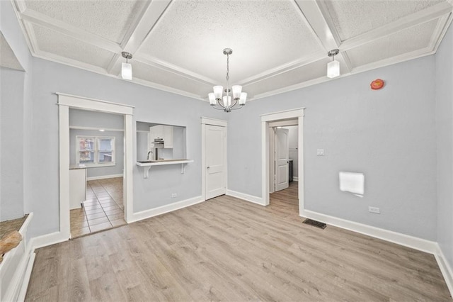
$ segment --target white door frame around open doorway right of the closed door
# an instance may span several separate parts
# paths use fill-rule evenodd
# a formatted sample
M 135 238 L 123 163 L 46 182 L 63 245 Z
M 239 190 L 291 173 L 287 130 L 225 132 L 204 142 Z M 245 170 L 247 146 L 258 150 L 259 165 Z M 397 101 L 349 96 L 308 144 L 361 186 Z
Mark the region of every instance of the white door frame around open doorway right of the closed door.
M 304 109 L 296 108 L 286 111 L 265 113 L 261 117 L 261 196 L 263 205 L 269 205 L 269 128 L 291 123 L 297 119 L 297 155 L 299 164 L 299 215 L 304 215 Z M 294 125 L 294 124 L 293 124 Z

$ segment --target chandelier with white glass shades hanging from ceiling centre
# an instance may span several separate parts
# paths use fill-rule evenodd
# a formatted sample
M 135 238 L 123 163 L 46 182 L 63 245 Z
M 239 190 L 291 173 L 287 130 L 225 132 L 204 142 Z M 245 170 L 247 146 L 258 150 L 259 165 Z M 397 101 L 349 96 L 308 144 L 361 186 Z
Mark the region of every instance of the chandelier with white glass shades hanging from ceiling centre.
M 226 89 L 223 86 L 214 86 L 214 92 L 211 92 L 207 96 L 210 99 L 210 104 L 212 108 L 223 110 L 225 112 L 231 112 L 234 109 L 241 109 L 246 104 L 247 94 L 242 92 L 242 86 L 233 85 L 229 89 L 229 55 L 233 53 L 231 48 L 224 49 L 224 55 L 226 55 Z M 222 96 L 223 93 L 226 93 L 225 96 Z M 234 103 L 231 105 L 231 95 L 233 95 Z M 220 107 L 216 107 L 219 105 Z M 236 106 L 237 105 L 237 106 Z

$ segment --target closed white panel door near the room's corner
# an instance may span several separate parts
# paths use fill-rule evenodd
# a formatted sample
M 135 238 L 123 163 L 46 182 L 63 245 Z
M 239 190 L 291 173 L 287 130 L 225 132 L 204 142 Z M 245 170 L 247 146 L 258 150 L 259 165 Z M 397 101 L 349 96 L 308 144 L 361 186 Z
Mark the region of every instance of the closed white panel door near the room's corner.
M 226 194 L 226 121 L 202 118 L 202 195 Z

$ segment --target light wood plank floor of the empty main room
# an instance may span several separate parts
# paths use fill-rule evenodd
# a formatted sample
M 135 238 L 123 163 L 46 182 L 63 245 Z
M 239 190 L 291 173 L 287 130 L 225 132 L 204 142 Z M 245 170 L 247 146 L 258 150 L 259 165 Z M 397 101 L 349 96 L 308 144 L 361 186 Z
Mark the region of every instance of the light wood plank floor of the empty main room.
M 220 196 L 41 248 L 26 300 L 451 301 L 432 255 L 304 225 L 271 198 Z

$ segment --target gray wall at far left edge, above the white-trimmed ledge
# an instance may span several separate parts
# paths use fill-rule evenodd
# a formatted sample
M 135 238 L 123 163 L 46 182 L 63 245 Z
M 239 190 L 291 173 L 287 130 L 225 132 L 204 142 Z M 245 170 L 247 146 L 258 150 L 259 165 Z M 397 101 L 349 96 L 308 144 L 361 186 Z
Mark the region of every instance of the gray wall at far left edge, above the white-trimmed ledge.
M 33 198 L 25 188 L 33 148 L 30 138 L 32 57 L 11 1 L 0 1 L 0 30 L 25 72 L 0 67 L 0 220 L 29 212 Z

